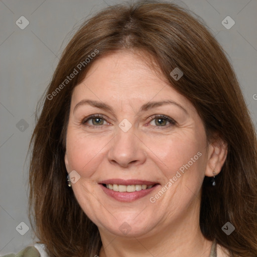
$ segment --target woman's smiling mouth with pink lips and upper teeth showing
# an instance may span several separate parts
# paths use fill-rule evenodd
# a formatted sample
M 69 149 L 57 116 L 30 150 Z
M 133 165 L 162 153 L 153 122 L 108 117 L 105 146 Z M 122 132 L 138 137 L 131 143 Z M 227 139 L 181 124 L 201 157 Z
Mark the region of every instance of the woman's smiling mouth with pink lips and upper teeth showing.
M 121 202 L 142 198 L 160 185 L 157 182 L 143 180 L 106 180 L 99 184 L 104 193 Z

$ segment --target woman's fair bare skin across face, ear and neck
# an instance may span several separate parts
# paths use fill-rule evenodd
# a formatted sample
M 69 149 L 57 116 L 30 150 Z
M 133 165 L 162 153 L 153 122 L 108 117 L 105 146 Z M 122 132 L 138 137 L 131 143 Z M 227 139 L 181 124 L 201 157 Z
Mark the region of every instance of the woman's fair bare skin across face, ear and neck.
M 78 104 L 83 99 L 104 102 L 112 111 Z M 162 100 L 182 107 L 165 104 L 140 111 L 143 104 Z M 86 121 L 91 114 L 102 114 L 103 120 Z M 161 126 L 155 114 L 176 122 L 163 119 Z M 118 126 L 123 119 L 132 124 L 127 132 Z M 99 229 L 100 257 L 209 256 L 212 242 L 203 237 L 199 226 L 200 195 L 204 176 L 213 176 L 214 169 L 217 175 L 225 161 L 226 150 L 220 143 L 207 144 L 203 122 L 192 103 L 140 55 L 119 51 L 94 61 L 72 94 L 65 164 L 68 173 L 75 170 L 80 175 L 72 189 Z M 201 157 L 159 199 L 150 202 L 198 152 Z M 120 202 L 99 185 L 114 178 L 159 185 L 150 195 Z M 123 223 L 130 230 L 126 234 L 119 229 Z M 220 247 L 218 256 L 226 256 Z

